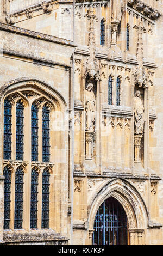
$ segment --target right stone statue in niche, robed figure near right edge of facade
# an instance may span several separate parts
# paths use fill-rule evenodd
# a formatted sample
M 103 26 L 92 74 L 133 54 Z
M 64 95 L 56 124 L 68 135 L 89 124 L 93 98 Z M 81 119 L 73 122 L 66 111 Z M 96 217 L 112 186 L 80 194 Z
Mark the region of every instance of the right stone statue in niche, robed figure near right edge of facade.
M 135 134 L 142 134 L 145 123 L 145 113 L 142 101 L 140 99 L 140 90 L 136 90 L 134 97 L 134 121 Z

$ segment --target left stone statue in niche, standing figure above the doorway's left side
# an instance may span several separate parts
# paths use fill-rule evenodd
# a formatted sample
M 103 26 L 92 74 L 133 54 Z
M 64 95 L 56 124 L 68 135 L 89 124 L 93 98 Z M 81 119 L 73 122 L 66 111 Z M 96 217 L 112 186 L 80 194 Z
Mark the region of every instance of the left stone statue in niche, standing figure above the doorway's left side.
M 95 131 L 96 99 L 93 84 L 89 83 L 85 91 L 86 131 Z

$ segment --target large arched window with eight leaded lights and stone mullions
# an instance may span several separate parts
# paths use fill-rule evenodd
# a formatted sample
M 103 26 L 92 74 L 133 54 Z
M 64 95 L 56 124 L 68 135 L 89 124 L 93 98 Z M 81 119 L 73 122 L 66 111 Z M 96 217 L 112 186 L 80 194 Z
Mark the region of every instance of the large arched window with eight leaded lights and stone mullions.
M 52 100 L 41 89 L 26 86 L 5 97 L 3 107 L 4 229 L 48 228 L 50 206 L 54 208 L 49 204 L 49 170 L 55 162 L 50 144 Z

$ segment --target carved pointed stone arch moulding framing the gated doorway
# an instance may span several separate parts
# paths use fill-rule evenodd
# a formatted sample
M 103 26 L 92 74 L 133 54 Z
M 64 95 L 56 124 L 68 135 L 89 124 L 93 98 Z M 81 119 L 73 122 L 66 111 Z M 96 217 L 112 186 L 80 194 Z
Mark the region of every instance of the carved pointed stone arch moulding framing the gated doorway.
M 92 234 L 93 223 L 99 206 L 109 197 L 114 197 L 121 203 L 126 212 L 129 224 L 130 244 L 145 244 L 144 232 L 148 227 L 148 211 L 141 194 L 127 180 L 115 178 L 106 180 L 98 187 L 88 202 L 89 234 Z M 91 245 L 90 235 L 90 245 Z

